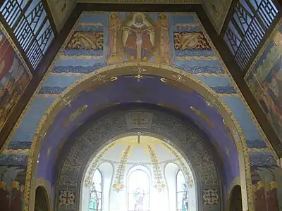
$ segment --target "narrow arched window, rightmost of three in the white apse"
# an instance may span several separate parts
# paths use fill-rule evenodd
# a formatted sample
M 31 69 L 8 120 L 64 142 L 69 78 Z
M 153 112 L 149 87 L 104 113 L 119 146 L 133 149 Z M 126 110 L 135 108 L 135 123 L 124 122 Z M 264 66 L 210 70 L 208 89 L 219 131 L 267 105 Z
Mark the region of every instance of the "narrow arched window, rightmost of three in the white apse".
M 176 201 L 177 210 L 188 211 L 188 185 L 181 170 L 176 174 Z

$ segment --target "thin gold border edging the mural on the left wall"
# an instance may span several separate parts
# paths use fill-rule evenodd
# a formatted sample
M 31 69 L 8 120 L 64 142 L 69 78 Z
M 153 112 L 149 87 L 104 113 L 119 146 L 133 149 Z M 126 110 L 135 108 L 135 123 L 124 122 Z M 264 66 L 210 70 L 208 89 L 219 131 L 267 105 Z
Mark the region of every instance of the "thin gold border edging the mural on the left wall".
M 30 78 L 28 79 L 27 85 L 25 86 L 25 89 L 27 89 L 28 84 L 30 84 L 30 81 L 33 77 L 32 73 L 30 72 L 30 68 L 28 68 L 27 63 L 25 63 L 25 60 L 23 59 L 23 56 L 21 55 L 20 51 L 18 51 L 18 48 L 16 47 L 16 44 L 13 42 L 13 39 L 10 37 L 10 35 L 8 34 L 8 32 L 6 31 L 4 25 L 2 25 L 2 23 L 0 22 L 0 30 L 1 32 L 4 34 L 4 36 L 6 37 L 6 39 L 8 39 L 9 43 L 11 44 L 13 50 L 17 53 L 18 58 L 20 59 L 20 62 L 23 64 L 23 67 L 25 68 L 25 71 L 27 72 L 27 74 L 30 76 Z M 23 90 L 23 92 L 20 94 L 20 96 L 23 96 L 23 93 L 25 92 L 25 89 Z M 19 102 L 19 100 L 18 100 Z M 18 105 L 18 102 L 16 103 L 16 105 Z M 16 108 L 16 105 L 13 106 L 13 108 L 10 111 L 10 114 L 8 115 L 8 117 L 10 117 L 11 112 Z M 4 127 L 4 125 L 6 124 L 8 117 L 6 118 L 6 120 L 4 120 L 2 126 L 0 127 L 0 130 Z M 0 153 L 1 153 L 1 148 L 0 148 Z

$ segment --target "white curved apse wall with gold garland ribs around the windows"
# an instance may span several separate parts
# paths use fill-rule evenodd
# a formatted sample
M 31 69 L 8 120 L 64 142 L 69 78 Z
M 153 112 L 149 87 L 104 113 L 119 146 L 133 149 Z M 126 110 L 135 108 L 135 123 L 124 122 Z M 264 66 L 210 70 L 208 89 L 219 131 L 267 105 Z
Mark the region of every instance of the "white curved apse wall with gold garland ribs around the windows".
M 99 200 L 102 210 L 133 210 L 132 191 L 139 187 L 145 190 L 143 210 L 180 210 L 184 184 L 188 210 L 197 210 L 197 179 L 182 155 L 175 149 L 172 152 L 171 148 L 166 148 L 166 143 L 154 137 L 141 136 L 140 143 L 137 139 L 137 136 L 128 136 L 114 141 L 116 144 L 104 147 L 93 158 L 82 179 L 80 210 L 90 210 L 91 184 L 100 184 L 99 177 L 97 181 L 94 177 L 97 170 L 102 175 L 102 200 Z M 138 179 L 138 173 L 148 178 L 148 184 L 146 179 Z

